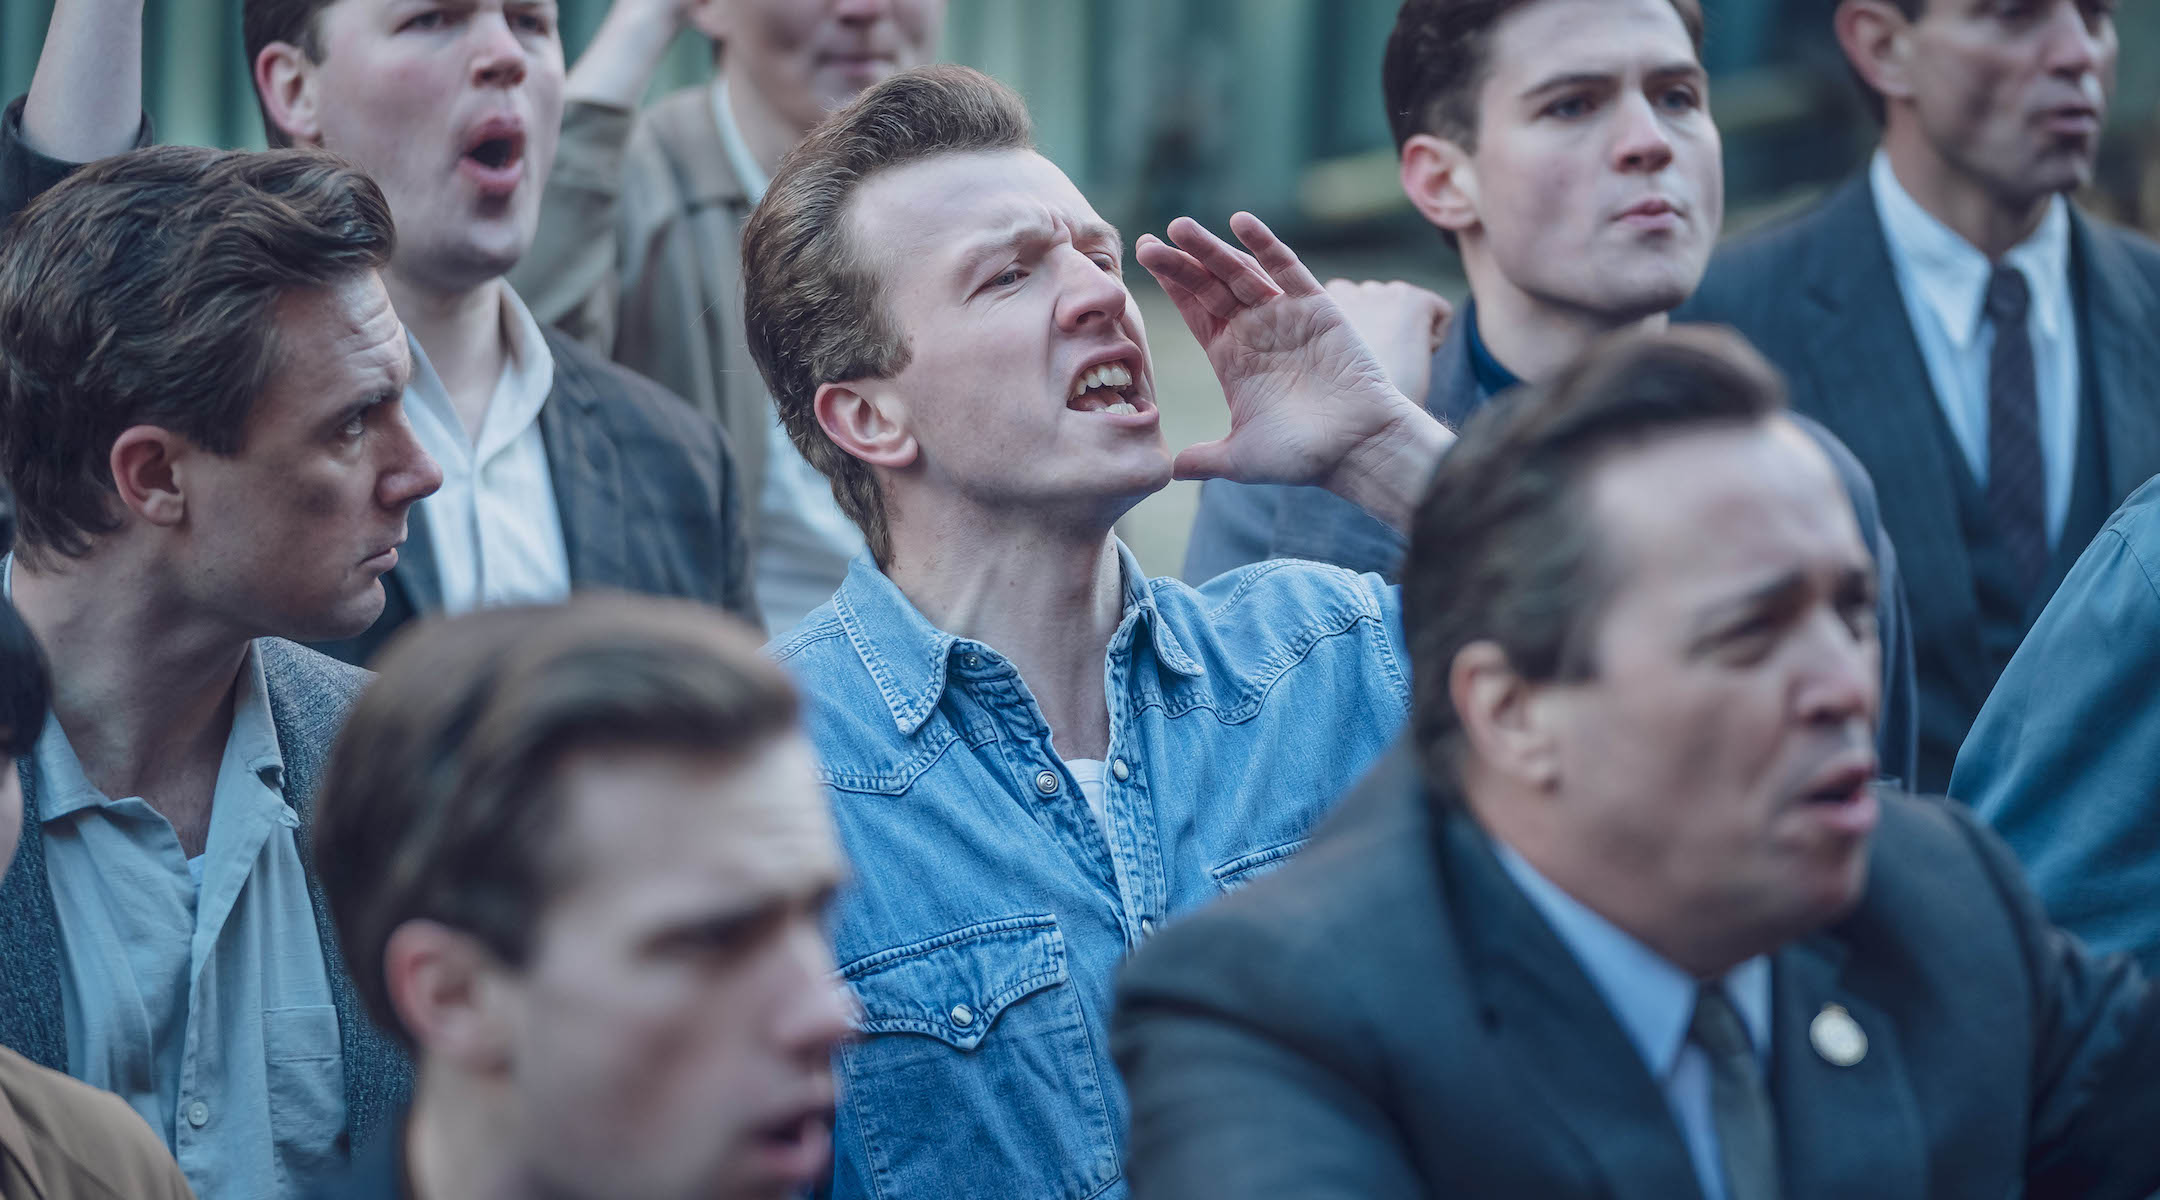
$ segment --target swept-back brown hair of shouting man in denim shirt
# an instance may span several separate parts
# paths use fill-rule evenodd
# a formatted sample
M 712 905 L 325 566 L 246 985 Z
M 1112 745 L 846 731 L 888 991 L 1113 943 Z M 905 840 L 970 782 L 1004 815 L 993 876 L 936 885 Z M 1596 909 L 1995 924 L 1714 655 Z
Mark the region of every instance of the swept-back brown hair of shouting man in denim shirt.
M 989 76 L 968 67 L 901 71 L 788 151 L 743 227 L 750 354 L 795 449 L 832 479 L 840 512 L 862 527 L 879 563 L 892 557 L 892 531 L 877 477 L 825 436 L 814 410 L 821 384 L 890 378 L 909 356 L 877 265 L 849 233 L 851 201 L 894 166 L 1032 145 L 1026 104 Z

